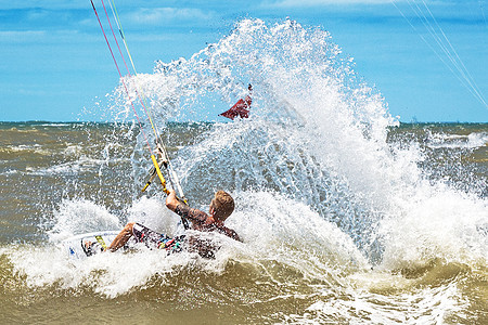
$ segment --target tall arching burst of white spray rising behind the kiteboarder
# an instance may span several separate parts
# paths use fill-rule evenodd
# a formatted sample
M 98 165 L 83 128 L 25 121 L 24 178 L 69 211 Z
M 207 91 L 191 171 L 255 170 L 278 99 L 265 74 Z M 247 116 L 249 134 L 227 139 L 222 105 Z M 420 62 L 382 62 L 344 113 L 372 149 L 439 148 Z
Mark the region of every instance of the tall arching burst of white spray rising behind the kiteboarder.
M 231 103 L 253 83 L 251 119 L 216 123 L 177 157 L 197 199 L 216 186 L 277 191 L 335 222 L 376 263 L 486 258 L 486 200 L 427 181 L 414 144 L 387 143 L 397 122 L 321 29 L 244 20 L 190 60 L 131 81 L 163 122 L 215 94 Z

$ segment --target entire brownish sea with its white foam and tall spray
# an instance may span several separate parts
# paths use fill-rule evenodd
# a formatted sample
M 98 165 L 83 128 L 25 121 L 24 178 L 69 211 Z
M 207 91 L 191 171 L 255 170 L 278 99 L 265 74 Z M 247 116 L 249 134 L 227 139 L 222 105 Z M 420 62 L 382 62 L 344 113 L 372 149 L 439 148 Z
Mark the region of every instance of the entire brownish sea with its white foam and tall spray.
M 244 20 L 126 81 L 115 122 L 0 123 L 2 323 L 488 322 L 486 123 L 399 123 L 328 32 L 292 21 Z M 251 117 L 218 119 L 249 82 Z M 213 260 L 59 245 L 128 221 L 180 231 L 160 185 L 141 193 L 141 90 L 190 205 L 235 198 L 243 243 L 211 236 Z

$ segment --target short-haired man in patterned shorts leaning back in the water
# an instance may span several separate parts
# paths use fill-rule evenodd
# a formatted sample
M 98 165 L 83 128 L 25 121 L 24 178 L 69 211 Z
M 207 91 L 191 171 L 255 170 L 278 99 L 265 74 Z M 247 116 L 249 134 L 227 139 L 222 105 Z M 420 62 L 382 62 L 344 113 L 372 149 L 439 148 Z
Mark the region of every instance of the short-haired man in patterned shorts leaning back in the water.
M 166 198 L 166 207 L 182 218 L 191 221 L 192 230 L 201 232 L 218 232 L 241 242 L 237 233 L 223 225 L 223 222 L 234 210 L 234 200 L 227 192 L 218 191 L 210 203 L 208 214 L 198 209 L 192 209 L 183 203 L 180 203 L 176 196 L 175 190 L 169 190 Z M 129 222 L 123 231 L 115 237 L 107 247 L 110 251 L 115 251 L 124 247 L 130 237 L 134 237 L 138 243 L 144 243 L 150 248 L 164 248 L 168 251 L 178 251 L 184 236 L 169 238 L 144 225 L 136 222 Z M 218 249 L 207 240 L 191 235 L 185 238 L 191 251 L 197 251 L 202 257 L 213 258 L 214 251 Z

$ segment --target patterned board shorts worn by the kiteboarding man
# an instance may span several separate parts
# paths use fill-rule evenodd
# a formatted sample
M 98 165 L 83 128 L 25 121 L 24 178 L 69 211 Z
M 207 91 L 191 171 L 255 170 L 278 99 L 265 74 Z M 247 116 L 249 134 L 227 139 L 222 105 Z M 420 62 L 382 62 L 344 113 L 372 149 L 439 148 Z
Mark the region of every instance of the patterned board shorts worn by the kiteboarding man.
M 181 251 L 184 240 L 184 235 L 171 238 L 165 234 L 150 230 L 140 223 L 133 224 L 132 234 L 138 243 L 144 243 L 151 249 L 166 249 L 168 252 Z

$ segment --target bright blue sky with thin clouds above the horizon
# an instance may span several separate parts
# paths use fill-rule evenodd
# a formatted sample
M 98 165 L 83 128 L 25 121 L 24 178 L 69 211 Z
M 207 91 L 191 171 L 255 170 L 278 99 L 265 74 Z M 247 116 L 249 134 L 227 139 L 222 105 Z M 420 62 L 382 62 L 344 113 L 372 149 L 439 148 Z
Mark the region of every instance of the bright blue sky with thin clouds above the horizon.
M 455 50 L 451 58 L 459 56 L 458 66 L 472 86 L 464 87 L 462 75 L 451 72 L 455 66 L 412 10 L 419 5 L 428 15 L 422 0 L 395 1 L 396 6 L 390 0 L 115 3 L 139 73 L 151 73 L 157 60 L 190 57 L 228 35 L 241 18 L 290 16 L 329 30 L 401 121 L 488 122 L 486 104 L 473 94 L 488 100 L 487 1 L 424 1 L 436 18 L 428 17 L 427 26 L 436 28 L 439 39 L 445 32 L 446 47 Z M 94 3 L 103 10 L 100 0 Z M 0 0 L 0 76 L 3 121 L 93 118 L 84 112 L 118 84 L 89 0 Z

